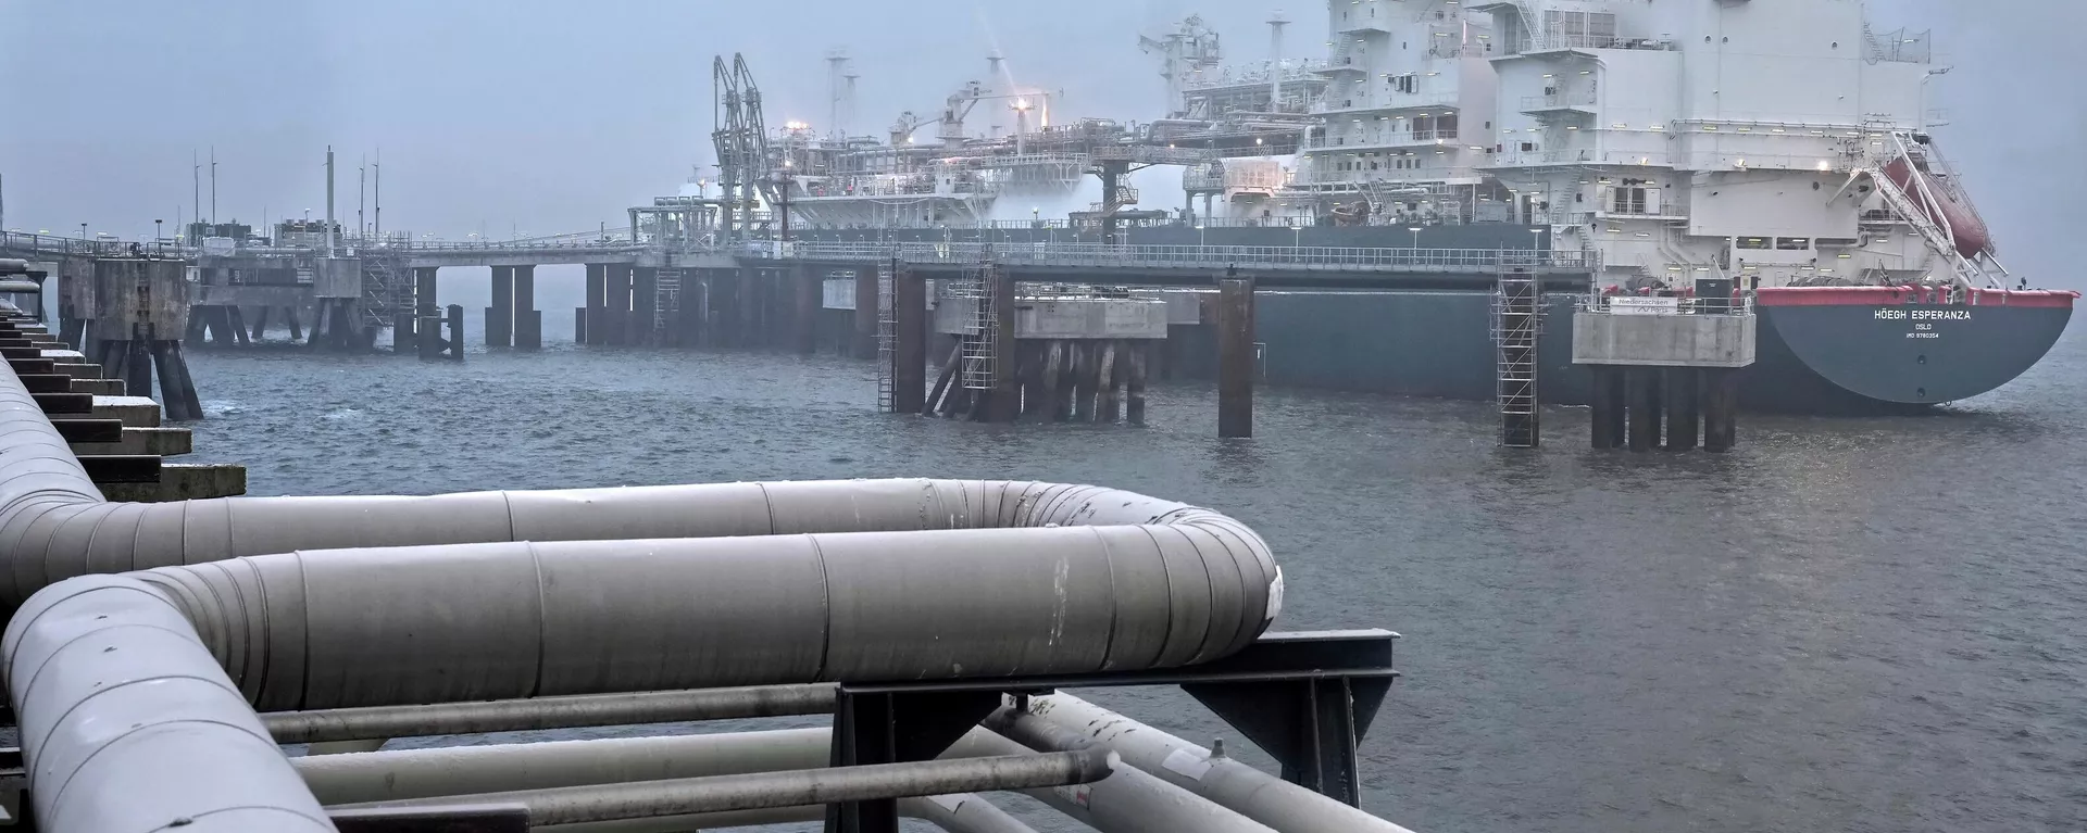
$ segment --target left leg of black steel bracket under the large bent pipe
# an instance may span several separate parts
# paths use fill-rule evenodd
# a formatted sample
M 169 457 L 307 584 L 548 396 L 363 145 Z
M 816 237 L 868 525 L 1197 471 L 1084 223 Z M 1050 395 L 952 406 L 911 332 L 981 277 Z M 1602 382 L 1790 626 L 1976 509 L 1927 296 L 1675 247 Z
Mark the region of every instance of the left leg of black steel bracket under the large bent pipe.
M 1000 691 L 904 691 L 841 685 L 833 704 L 833 766 L 935 760 L 993 714 Z M 899 833 L 897 800 L 833 804 L 826 833 Z

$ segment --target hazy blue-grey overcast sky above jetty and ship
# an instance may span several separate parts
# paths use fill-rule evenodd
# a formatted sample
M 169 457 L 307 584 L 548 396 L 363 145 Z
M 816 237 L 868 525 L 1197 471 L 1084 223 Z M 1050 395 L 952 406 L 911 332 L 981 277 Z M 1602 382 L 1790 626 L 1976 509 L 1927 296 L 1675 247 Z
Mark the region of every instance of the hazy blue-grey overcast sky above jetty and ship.
M 712 163 L 718 52 L 745 52 L 770 125 L 826 121 L 833 48 L 862 75 L 864 134 L 937 111 L 995 48 L 1016 81 L 1064 90 L 1058 117 L 1144 121 L 1165 92 L 1137 31 L 1194 10 L 1258 61 L 1277 6 L 1292 52 L 1323 52 L 1325 6 L 1296 0 L 0 0 L 6 225 L 150 234 L 192 211 L 190 154 L 211 146 L 221 219 L 317 215 L 332 144 L 346 223 L 382 148 L 388 230 L 580 232 Z M 1870 6 L 1882 29 L 1937 29 L 1956 67 L 1935 86 L 1956 119 L 1939 136 L 2004 259 L 2087 286 L 2060 244 L 2087 219 L 2087 2 Z

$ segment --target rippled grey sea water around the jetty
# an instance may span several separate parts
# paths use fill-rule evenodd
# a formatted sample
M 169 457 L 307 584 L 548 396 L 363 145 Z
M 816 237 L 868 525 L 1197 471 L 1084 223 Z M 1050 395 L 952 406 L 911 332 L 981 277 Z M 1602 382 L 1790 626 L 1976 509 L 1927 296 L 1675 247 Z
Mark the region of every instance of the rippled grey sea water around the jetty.
M 1311 390 L 1219 441 L 1202 384 L 1150 428 L 977 426 L 877 413 L 868 363 L 570 338 L 192 370 L 196 457 L 255 495 L 966 476 L 1236 514 L 1288 574 L 1279 628 L 1405 635 L 1365 806 L 1421 833 L 2087 829 L 2079 328 L 1989 397 L 1747 415 L 1722 457 L 1588 451 L 1580 409 L 1503 451 L 1484 403 Z M 1177 691 L 1096 699 L 1244 747 Z

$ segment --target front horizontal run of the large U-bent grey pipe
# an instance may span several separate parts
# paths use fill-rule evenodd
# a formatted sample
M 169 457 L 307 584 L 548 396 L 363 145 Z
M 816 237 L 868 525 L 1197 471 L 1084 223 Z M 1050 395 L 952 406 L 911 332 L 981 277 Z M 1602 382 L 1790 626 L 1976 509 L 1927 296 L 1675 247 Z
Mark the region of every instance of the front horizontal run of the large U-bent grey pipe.
M 315 710 L 1085 674 L 1238 651 L 1265 626 L 1265 589 L 1223 547 L 1165 532 L 334 549 L 131 576 L 194 622 L 248 701 Z

